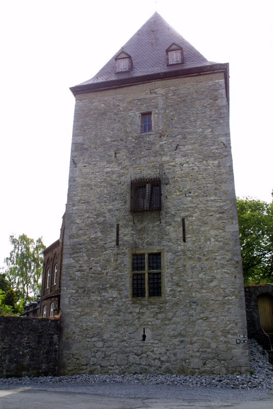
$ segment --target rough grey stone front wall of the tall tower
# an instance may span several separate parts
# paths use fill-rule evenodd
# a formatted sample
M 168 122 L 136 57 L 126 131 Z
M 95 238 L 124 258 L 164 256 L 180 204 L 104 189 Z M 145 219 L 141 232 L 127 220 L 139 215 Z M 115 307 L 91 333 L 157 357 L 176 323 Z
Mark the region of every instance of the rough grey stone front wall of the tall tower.
M 133 224 L 130 178 L 158 174 L 161 222 L 147 212 Z M 162 253 L 161 299 L 131 299 L 136 251 Z M 222 74 L 77 96 L 61 309 L 61 374 L 249 370 L 236 344 L 246 318 Z

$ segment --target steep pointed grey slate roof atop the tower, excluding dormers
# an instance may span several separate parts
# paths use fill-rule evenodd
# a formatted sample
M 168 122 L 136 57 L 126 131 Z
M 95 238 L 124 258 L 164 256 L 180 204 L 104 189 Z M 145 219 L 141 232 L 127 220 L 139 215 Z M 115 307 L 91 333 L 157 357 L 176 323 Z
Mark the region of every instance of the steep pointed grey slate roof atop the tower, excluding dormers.
M 166 50 L 172 43 L 183 47 L 184 64 L 166 65 Z M 122 52 L 132 58 L 130 72 L 115 73 L 115 58 Z M 141 77 L 169 71 L 188 70 L 214 64 L 204 58 L 185 38 L 155 12 L 146 23 L 90 80 L 79 85 Z

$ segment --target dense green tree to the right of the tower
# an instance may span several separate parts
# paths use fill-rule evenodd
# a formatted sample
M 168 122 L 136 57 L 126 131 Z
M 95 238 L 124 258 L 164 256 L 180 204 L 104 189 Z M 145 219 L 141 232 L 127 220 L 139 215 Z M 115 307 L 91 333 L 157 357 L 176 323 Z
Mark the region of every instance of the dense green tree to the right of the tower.
M 273 203 L 237 198 L 245 284 L 273 283 Z

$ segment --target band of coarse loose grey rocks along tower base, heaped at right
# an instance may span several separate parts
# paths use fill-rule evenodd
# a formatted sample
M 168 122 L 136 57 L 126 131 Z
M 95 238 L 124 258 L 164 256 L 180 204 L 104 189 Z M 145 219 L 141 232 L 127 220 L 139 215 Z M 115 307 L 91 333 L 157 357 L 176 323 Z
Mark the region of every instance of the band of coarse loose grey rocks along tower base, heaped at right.
M 12 385 L 38 387 L 39 385 L 61 385 L 77 383 L 134 383 L 134 384 L 167 384 L 188 385 L 190 387 L 259 389 L 273 390 L 273 366 L 268 362 L 268 353 L 255 339 L 249 339 L 249 359 L 251 375 L 74 375 L 74 376 L 40 376 L 38 378 L 0 379 L 0 388 Z

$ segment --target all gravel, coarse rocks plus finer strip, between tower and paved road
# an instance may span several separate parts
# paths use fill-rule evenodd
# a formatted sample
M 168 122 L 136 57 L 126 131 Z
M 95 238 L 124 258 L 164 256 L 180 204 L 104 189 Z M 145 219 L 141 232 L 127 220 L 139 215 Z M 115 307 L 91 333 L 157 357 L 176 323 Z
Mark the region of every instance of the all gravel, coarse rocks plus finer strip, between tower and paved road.
M 184 385 L 187 395 L 195 394 L 199 387 L 203 399 L 206 391 L 215 389 L 216 395 L 223 397 L 232 392 L 236 397 L 236 390 L 246 390 L 247 395 L 255 392 L 273 391 L 273 367 L 268 362 L 268 354 L 254 339 L 249 339 L 249 358 L 252 375 L 226 376 L 192 376 L 192 375 L 74 375 L 74 376 L 44 376 L 37 378 L 8 378 L 0 379 L 0 389 L 36 389 L 63 392 L 82 392 L 108 396 L 150 396 L 160 397 L 170 395 L 175 397 L 181 393 L 177 385 Z M 117 388 L 119 383 L 119 388 Z M 151 386 L 153 387 L 151 388 Z M 219 390 L 220 389 L 220 390 Z M 202 390 L 202 391 L 201 391 Z M 152 391 L 152 392 L 151 392 Z M 179 392 L 180 391 L 180 392 Z M 191 393 L 192 391 L 192 393 Z M 212 391 L 211 391 L 212 392 Z M 240 391 L 242 392 L 242 391 Z M 177 396 L 178 396 L 177 395 Z M 259 396 L 263 394 L 259 393 Z M 272 395 L 272 393 L 270 393 Z M 239 395 L 238 395 L 239 396 Z M 241 396 L 241 394 L 240 394 Z

